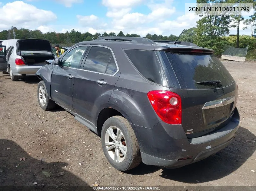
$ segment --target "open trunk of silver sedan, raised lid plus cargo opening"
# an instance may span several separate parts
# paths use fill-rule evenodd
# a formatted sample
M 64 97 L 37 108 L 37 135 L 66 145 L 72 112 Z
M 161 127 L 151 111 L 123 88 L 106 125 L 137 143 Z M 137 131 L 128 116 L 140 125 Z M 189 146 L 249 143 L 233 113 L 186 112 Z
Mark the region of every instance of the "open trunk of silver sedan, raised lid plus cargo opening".
M 16 52 L 27 65 L 45 65 L 45 60 L 54 59 L 50 41 L 43 39 L 18 40 Z

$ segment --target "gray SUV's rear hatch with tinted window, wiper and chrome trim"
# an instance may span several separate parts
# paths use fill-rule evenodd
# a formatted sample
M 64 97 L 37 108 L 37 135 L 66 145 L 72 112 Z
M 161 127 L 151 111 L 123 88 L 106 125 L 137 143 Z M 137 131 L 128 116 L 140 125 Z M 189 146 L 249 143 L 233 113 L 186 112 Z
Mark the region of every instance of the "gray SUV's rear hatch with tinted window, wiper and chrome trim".
M 199 49 L 160 54 L 165 57 L 167 71 L 172 70 L 169 76 L 174 72 L 171 78 L 178 81 L 179 88 L 187 90 L 187 95 L 181 96 L 182 126 L 187 137 L 198 137 L 226 125 L 234 113 L 237 85 L 220 60 Z

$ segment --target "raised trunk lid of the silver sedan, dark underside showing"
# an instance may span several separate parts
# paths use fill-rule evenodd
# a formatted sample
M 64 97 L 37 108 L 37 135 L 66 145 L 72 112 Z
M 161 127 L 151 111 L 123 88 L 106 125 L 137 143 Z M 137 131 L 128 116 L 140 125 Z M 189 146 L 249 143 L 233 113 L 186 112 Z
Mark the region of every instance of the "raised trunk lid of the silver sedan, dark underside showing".
M 52 45 L 49 40 L 43 39 L 21 39 L 17 41 L 16 52 L 33 50 L 52 52 Z

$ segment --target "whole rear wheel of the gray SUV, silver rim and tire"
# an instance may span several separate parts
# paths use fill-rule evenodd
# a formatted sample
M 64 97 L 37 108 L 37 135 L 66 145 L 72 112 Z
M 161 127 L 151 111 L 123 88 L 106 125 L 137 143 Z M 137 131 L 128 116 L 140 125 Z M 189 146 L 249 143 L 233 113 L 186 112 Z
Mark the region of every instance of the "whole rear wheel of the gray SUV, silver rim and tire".
M 138 140 L 124 117 L 113 116 L 105 121 L 101 144 L 106 158 L 117 170 L 130 170 L 141 163 Z

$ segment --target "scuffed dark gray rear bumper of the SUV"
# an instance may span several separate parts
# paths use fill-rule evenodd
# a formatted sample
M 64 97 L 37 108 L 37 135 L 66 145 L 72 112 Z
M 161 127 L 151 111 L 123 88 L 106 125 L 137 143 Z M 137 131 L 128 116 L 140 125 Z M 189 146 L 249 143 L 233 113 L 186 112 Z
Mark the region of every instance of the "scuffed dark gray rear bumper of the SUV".
M 239 127 L 235 108 L 230 123 L 198 138 L 188 139 L 181 125 L 159 122 L 152 128 L 132 125 L 138 139 L 142 162 L 163 168 L 178 168 L 205 159 L 225 148 Z M 189 159 L 181 160 L 182 158 Z

